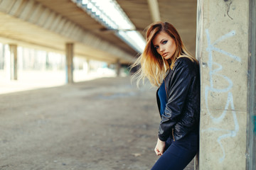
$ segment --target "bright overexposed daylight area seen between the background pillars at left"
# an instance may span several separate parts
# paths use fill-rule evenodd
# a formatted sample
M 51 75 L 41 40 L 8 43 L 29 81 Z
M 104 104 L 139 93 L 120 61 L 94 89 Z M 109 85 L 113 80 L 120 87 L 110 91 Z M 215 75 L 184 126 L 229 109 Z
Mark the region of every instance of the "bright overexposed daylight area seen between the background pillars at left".
M 9 45 L 0 43 L 0 94 L 15 91 L 61 86 L 65 82 L 65 55 L 28 47 L 17 47 L 17 79 L 11 79 Z M 99 60 L 73 58 L 73 81 L 88 81 L 101 77 L 117 77 L 114 64 Z M 129 68 L 122 67 L 120 76 L 127 77 Z

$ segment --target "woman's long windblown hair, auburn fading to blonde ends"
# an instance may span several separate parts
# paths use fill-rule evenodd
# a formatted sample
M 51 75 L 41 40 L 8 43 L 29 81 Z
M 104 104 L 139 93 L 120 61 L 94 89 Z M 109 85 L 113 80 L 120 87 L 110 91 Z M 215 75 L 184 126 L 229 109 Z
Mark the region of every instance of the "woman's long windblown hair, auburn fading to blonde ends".
M 174 39 L 176 44 L 176 51 L 174 55 L 169 60 L 164 60 L 153 45 L 152 40 L 159 34 L 161 31 L 164 31 L 171 38 Z M 139 67 L 139 70 L 133 75 L 133 78 L 137 78 L 137 86 L 142 80 L 149 79 L 150 83 L 153 86 L 159 86 L 161 81 L 163 81 L 167 69 L 173 69 L 174 63 L 179 57 L 188 57 L 193 62 L 198 62 L 193 55 L 191 55 L 186 47 L 183 45 L 180 35 L 174 26 L 170 23 L 156 22 L 148 26 L 146 30 L 146 46 L 142 55 L 138 57 L 136 62 L 132 64 L 133 67 Z

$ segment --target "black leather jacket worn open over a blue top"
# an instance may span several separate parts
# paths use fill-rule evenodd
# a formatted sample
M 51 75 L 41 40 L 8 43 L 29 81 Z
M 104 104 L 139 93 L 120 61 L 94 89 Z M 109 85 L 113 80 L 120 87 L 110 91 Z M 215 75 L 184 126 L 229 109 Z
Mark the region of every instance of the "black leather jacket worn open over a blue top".
M 191 130 L 198 130 L 200 115 L 199 66 L 187 57 L 176 60 L 173 69 L 166 72 L 166 108 L 161 115 L 159 139 L 179 140 Z M 158 89 L 159 90 L 159 89 Z M 158 91 L 157 90 L 157 91 Z M 160 100 L 157 95 L 160 113 Z

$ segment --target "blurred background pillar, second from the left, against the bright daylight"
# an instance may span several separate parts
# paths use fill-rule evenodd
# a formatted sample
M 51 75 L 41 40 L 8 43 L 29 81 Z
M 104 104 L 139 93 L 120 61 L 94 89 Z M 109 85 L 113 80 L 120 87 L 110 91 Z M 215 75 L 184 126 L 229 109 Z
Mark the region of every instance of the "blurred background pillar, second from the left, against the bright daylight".
M 73 55 L 74 55 L 74 44 L 66 43 L 65 45 L 65 55 L 66 55 L 66 83 L 73 83 Z

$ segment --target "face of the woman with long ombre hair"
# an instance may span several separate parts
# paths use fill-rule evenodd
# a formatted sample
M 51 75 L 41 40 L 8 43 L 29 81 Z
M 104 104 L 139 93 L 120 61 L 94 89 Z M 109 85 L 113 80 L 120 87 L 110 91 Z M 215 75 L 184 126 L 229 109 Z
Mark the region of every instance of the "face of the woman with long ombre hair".
M 171 59 L 176 50 L 176 44 L 173 38 L 170 35 L 161 31 L 156 35 L 152 40 L 154 48 L 165 60 Z

